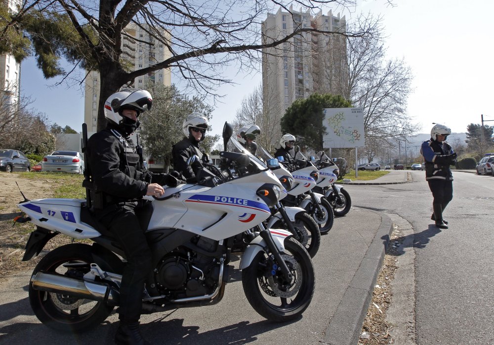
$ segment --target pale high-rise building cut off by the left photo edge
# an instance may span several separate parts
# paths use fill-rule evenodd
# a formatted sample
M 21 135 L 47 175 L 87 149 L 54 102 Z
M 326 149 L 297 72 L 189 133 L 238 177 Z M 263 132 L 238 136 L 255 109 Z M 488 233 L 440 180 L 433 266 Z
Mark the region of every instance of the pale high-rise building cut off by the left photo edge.
M 7 4 L 9 11 L 17 11 L 18 0 L 2 0 Z M 12 55 L 0 55 L 0 92 L 1 97 L 8 104 L 16 104 L 20 98 L 21 64 L 17 63 Z

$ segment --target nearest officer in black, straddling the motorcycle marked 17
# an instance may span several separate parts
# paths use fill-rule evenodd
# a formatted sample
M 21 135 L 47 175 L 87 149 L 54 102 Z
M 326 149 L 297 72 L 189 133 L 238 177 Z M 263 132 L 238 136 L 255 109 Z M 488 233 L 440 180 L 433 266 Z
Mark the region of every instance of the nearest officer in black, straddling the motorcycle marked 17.
M 92 213 L 122 246 L 125 264 L 119 297 L 120 325 L 117 344 L 148 344 L 139 332 L 144 282 L 151 271 L 151 250 L 136 210 L 145 206 L 145 195 L 163 195 L 162 185 L 181 181 L 153 174 L 142 165 L 129 136 L 139 127 L 139 115 L 151 109 L 148 91 L 124 89 L 105 102 L 106 129 L 87 142 L 87 167 L 94 188 L 90 190 Z

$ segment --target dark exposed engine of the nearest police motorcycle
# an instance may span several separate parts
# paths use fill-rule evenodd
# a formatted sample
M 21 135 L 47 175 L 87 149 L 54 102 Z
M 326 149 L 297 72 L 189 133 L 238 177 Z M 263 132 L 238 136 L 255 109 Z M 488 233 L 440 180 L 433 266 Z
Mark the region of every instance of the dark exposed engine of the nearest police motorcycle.
M 193 243 L 213 252 L 217 242 L 199 237 Z M 179 247 L 165 255 L 154 270 L 158 290 L 171 299 L 210 294 L 217 286 L 218 263 L 217 258 Z

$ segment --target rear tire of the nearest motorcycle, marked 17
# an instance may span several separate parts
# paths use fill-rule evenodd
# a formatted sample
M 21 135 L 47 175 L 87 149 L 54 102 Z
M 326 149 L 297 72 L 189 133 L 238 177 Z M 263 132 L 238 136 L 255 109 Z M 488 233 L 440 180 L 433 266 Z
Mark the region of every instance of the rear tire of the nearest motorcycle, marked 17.
M 90 245 L 66 244 L 46 254 L 36 266 L 33 275 L 44 271 L 82 279 L 82 276 L 89 271 L 91 262 L 93 259 Z M 63 267 L 70 263 L 87 265 Z M 99 325 L 114 308 L 104 302 L 35 290 L 32 284 L 29 284 L 29 302 L 38 319 L 46 326 L 71 333 L 83 332 Z

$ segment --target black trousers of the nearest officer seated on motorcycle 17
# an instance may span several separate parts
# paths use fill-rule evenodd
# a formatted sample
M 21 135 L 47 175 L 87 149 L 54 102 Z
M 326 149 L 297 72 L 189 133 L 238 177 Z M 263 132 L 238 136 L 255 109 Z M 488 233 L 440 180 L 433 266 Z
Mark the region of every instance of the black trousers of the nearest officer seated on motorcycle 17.
M 110 211 L 95 212 L 125 253 L 127 263 L 120 287 L 119 319 L 129 323 L 139 321 L 144 281 L 151 271 L 151 250 L 135 215 L 135 207 L 134 203 L 126 203 Z

